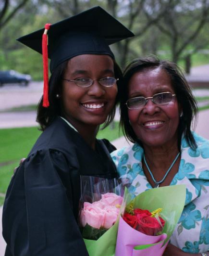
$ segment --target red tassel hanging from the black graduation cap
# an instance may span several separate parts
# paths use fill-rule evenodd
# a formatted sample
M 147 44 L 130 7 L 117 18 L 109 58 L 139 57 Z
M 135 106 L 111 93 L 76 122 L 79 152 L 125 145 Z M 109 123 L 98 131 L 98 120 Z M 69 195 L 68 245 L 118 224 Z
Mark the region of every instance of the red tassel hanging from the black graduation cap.
M 43 107 L 49 107 L 49 69 L 48 69 L 48 36 L 47 32 L 51 24 L 45 25 L 44 34 L 42 36 L 42 56 L 43 56 L 43 72 L 44 72 L 44 92 Z

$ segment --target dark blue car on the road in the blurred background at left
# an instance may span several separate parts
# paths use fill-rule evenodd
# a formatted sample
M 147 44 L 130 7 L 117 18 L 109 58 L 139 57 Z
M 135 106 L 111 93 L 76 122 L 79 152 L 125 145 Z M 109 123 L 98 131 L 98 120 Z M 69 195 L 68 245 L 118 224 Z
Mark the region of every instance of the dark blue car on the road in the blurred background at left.
M 0 86 L 3 84 L 16 84 L 27 86 L 31 81 L 31 76 L 26 74 L 21 74 L 14 70 L 0 71 Z

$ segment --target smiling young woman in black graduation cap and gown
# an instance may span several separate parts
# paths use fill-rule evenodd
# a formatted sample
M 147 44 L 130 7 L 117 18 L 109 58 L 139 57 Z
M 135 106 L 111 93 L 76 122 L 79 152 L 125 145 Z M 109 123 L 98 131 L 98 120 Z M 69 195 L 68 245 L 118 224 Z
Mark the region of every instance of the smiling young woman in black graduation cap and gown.
M 117 177 L 109 154 L 114 147 L 96 134 L 114 116 L 121 79 L 108 44 L 133 34 L 100 7 L 46 28 L 49 103 L 45 91 L 37 112 L 43 133 L 7 191 L 6 256 L 88 255 L 77 225 L 80 176 Z M 42 52 L 42 34 L 19 41 Z

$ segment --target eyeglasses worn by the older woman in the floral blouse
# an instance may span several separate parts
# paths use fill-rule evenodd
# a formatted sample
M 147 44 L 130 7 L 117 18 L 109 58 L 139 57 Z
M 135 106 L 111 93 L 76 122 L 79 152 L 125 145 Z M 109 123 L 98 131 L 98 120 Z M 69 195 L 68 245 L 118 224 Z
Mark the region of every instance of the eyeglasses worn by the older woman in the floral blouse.
M 167 91 L 167 92 L 154 94 L 152 97 L 147 97 L 147 98 L 135 97 L 127 100 L 125 104 L 129 109 L 138 109 L 138 108 L 144 107 L 148 103 L 148 99 L 151 99 L 151 101 L 157 105 L 164 105 L 171 102 L 174 96 L 175 94 L 172 94 L 171 92 Z

